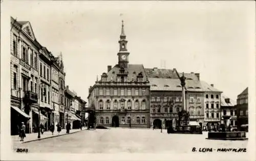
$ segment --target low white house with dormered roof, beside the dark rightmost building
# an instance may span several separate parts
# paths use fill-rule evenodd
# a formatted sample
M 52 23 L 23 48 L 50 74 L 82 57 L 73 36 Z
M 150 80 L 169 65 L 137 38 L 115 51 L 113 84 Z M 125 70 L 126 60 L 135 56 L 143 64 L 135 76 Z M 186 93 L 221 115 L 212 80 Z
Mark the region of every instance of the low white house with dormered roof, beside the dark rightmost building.
M 237 107 L 236 101 L 231 100 L 225 95 L 221 95 L 221 124 L 225 124 L 223 116 L 230 117 L 227 121 L 227 127 L 237 127 Z

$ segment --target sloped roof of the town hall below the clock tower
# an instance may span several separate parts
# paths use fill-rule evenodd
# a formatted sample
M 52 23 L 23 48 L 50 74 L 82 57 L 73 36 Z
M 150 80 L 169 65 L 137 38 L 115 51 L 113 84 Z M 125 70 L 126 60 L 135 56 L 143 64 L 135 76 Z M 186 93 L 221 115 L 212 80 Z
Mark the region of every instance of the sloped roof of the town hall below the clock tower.
M 116 64 L 107 74 L 106 81 L 117 81 L 117 74 L 119 74 L 119 70 L 121 68 L 118 64 Z M 125 72 L 127 72 L 127 78 L 129 79 L 127 82 L 131 82 L 132 78 L 134 78 L 134 81 L 136 81 L 137 76 L 139 74 L 142 74 L 143 79 L 142 82 L 147 81 L 147 76 L 144 70 L 144 67 L 142 64 L 128 64 L 127 68 L 125 69 Z M 103 73 L 104 74 L 104 73 Z

